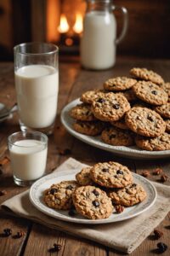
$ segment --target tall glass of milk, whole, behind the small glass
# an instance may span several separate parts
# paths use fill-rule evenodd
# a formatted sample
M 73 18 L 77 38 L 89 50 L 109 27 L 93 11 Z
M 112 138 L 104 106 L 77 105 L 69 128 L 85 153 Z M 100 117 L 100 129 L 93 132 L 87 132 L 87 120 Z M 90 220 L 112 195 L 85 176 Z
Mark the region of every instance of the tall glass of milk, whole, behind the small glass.
M 59 49 L 54 44 L 14 47 L 14 78 L 21 131 L 54 130 L 59 91 Z

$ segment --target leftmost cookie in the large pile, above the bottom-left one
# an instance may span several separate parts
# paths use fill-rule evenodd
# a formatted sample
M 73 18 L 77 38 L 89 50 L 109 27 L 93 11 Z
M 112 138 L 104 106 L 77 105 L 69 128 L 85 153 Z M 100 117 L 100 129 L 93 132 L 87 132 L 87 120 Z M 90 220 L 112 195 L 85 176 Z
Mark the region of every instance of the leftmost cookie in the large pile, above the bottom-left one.
M 71 108 L 70 115 L 73 119 L 80 121 L 94 121 L 96 119 L 94 114 L 91 112 L 91 106 L 86 103 L 82 103 Z

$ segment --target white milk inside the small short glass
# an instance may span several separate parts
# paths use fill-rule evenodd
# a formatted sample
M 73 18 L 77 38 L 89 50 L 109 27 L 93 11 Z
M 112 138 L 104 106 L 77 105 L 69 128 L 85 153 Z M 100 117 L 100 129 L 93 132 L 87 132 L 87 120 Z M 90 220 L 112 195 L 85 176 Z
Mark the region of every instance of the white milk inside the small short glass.
M 22 181 L 42 177 L 46 170 L 47 152 L 47 145 L 38 140 L 26 139 L 15 142 L 9 148 L 14 177 Z

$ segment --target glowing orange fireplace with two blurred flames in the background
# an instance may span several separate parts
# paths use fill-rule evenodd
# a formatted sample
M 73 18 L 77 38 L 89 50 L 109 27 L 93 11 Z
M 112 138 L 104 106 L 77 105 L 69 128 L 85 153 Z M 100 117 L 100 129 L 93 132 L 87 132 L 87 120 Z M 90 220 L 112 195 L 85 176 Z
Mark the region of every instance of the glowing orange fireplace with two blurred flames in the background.
M 61 54 L 77 54 L 86 9 L 83 0 L 46 0 L 46 41 L 58 44 Z

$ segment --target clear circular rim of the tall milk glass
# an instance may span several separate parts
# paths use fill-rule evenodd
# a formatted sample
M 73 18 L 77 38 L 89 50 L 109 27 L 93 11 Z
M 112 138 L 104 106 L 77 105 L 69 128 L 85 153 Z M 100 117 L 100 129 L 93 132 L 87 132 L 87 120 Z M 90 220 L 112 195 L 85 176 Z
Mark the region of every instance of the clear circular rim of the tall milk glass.
M 24 45 L 33 45 L 33 44 L 43 44 L 43 45 L 49 45 L 49 46 L 53 46 L 54 50 L 49 50 L 48 52 L 40 52 L 40 53 L 31 53 L 31 52 L 20 52 L 19 49 L 20 47 L 24 46 Z M 44 43 L 44 42 L 29 42 L 29 43 L 22 43 L 22 44 L 17 44 L 14 46 L 14 52 L 17 52 L 17 54 L 20 55 L 50 55 L 50 54 L 54 54 L 54 53 L 58 53 L 59 52 L 59 47 L 55 44 L 52 43 Z

